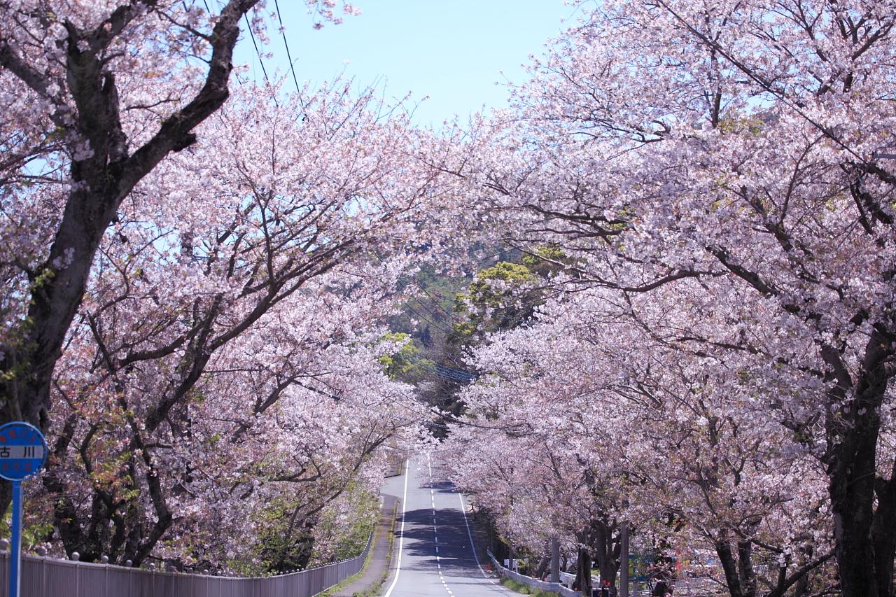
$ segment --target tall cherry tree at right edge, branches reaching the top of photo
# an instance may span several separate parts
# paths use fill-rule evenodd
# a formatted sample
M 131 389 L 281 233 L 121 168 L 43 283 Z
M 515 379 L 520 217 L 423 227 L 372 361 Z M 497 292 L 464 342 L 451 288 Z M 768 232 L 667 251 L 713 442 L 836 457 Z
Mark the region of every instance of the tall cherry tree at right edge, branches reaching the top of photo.
M 579 288 L 711 288 L 727 316 L 678 345 L 763 355 L 762 409 L 826 473 L 841 590 L 889 596 L 892 4 L 582 11 L 519 91 L 504 152 L 455 171 L 512 214 L 510 238 L 587 259 Z

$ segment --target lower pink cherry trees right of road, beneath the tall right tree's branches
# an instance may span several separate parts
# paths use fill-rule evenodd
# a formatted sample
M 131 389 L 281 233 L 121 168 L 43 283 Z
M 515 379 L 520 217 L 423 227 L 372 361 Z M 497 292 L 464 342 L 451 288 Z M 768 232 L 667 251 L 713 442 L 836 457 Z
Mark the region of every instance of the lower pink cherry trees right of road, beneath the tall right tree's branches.
M 573 296 L 477 351 L 476 365 L 494 373 L 464 394 L 468 424 L 493 430 L 485 441 L 478 430 L 455 431 L 464 450 L 452 459 L 458 483 L 498 513 L 520 503 L 543 510 L 525 510 L 517 535 L 574 536 L 602 578 L 616 577 L 614 531 L 627 520 L 641 550 L 666 550 L 682 564 L 694 549 L 715 552 L 731 595 L 824 586 L 833 552 L 823 470 L 762 408 L 759 397 L 778 390 L 754 385 L 762 357 L 685 350 L 687 295 Z M 711 302 L 702 309 L 694 321 L 705 323 L 687 333 L 717 329 L 713 310 L 727 315 Z

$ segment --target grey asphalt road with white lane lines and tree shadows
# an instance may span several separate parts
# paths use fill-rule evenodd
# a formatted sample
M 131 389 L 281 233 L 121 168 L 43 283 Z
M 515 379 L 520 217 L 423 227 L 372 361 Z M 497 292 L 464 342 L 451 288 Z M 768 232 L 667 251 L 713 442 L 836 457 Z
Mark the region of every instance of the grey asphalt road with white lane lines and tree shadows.
M 512 593 L 479 567 L 461 495 L 433 481 L 426 456 L 411 459 L 406 476 L 393 477 L 383 493 L 401 500 L 396 539 L 397 576 L 383 597 L 509 597 Z M 406 484 L 406 485 L 405 485 Z M 407 495 L 405 496 L 405 492 Z

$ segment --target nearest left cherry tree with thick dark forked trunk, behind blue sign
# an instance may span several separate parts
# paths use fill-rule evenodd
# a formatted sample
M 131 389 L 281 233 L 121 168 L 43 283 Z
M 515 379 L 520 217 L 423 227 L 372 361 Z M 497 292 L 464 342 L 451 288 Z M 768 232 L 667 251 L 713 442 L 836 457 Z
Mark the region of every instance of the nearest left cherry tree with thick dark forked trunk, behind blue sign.
M 0 4 L 4 421 L 47 428 L 56 359 L 102 238 L 228 98 L 240 23 L 258 4 Z M 331 3 L 308 4 L 336 18 Z

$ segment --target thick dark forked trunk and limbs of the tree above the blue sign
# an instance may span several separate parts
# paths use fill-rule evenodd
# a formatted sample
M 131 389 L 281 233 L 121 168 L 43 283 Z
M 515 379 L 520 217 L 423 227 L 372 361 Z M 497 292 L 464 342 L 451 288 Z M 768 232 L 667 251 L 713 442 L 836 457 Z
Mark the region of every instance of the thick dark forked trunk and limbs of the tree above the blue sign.
M 49 248 L 47 260 L 29 273 L 28 318 L 21 339 L 3 347 L 0 370 L 4 404 L 0 423 L 25 420 L 46 430 L 50 383 L 56 360 L 73 317 L 81 305 L 99 242 L 116 210 L 134 186 L 171 151 L 194 143 L 193 129 L 228 99 L 233 48 L 240 19 L 258 0 L 229 0 L 221 9 L 208 41 L 209 70 L 202 89 L 183 108 L 166 118 L 158 132 L 134 152 L 128 150 L 120 118 L 115 74 L 104 57 L 110 44 L 132 22 L 146 18 L 155 0 L 134 0 L 109 14 L 93 30 L 79 30 L 65 22 L 65 82 L 75 114 L 59 104 L 54 122 L 72 133 L 72 143 L 89 143 L 89 157 L 73 160 L 72 191 Z M 0 67 L 19 78 L 31 91 L 55 101 L 47 91 L 52 81 L 9 39 L 0 38 Z M 70 148 L 73 149 L 73 148 Z M 71 151 L 78 155 L 77 151 Z M 9 483 L 0 484 L 0 508 L 9 505 Z

